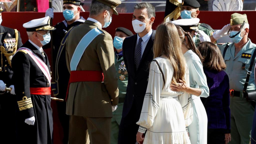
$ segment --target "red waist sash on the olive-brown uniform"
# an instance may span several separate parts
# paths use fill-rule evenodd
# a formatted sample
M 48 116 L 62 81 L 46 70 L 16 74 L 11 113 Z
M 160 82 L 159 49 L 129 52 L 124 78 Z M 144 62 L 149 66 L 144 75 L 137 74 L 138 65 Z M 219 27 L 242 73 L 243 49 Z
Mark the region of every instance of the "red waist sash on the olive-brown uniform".
M 102 71 L 76 70 L 70 72 L 66 99 L 68 98 L 70 83 L 82 81 L 103 81 L 104 75 Z

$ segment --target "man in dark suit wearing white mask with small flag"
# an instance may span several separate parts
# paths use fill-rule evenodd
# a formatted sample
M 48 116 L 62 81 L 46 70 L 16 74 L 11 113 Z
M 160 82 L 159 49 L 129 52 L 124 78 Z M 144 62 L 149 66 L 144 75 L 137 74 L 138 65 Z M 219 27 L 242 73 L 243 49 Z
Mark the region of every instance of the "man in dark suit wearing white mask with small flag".
M 144 96 L 147 89 L 150 63 L 153 60 L 155 8 L 150 3 L 134 6 L 133 29 L 137 33 L 123 42 L 124 63 L 129 74 L 118 143 L 135 143 Z

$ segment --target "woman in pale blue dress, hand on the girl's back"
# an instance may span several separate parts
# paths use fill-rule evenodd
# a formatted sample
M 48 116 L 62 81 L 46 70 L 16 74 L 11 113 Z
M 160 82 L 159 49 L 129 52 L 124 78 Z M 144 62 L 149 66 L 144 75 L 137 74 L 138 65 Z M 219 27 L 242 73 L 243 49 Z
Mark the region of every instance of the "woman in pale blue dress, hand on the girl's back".
M 173 84 L 174 91 L 186 91 L 192 94 L 193 122 L 188 127 L 191 144 L 207 144 L 207 114 L 200 97 L 209 96 L 207 79 L 201 63 L 201 54 L 193 42 L 193 36 L 176 25 L 182 41 L 182 51 L 189 70 L 189 83 Z

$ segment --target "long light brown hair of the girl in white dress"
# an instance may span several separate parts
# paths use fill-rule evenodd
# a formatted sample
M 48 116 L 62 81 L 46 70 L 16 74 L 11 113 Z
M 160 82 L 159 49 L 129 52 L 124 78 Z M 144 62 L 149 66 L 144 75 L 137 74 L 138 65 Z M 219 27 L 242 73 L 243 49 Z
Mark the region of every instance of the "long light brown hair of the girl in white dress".
M 177 28 L 172 23 L 163 23 L 156 29 L 153 45 L 154 58 L 165 55 L 173 66 L 172 83 L 184 80 L 186 71 L 185 58 L 181 50 L 181 42 Z

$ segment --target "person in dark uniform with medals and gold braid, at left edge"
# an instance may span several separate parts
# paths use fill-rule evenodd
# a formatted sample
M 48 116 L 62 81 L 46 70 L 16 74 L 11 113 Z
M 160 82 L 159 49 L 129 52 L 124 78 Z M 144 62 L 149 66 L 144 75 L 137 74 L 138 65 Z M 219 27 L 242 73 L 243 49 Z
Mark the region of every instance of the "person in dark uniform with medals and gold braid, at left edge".
M 0 143 L 5 143 L 7 140 L 13 143 L 13 136 L 15 135 L 15 111 L 17 103 L 15 100 L 15 92 L 12 81 L 12 64 L 11 60 L 16 50 L 22 46 L 20 34 L 18 30 L 4 27 L 2 23 L 3 9 L 0 6 L 0 115 L 8 117 L 11 125 L 6 125 L 3 118 L 0 119 Z M 12 90 L 5 91 L 6 87 Z M 8 99 L 6 102 L 4 99 Z

